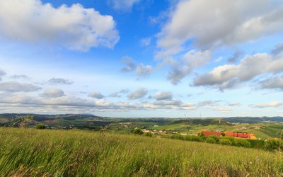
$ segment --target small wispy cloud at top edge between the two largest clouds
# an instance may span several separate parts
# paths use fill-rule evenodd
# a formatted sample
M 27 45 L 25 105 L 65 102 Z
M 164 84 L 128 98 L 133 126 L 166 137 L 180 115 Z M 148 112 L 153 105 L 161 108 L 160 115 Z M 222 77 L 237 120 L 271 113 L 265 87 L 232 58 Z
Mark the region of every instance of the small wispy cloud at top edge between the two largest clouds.
M 108 5 L 118 11 L 131 11 L 140 0 L 108 0 Z

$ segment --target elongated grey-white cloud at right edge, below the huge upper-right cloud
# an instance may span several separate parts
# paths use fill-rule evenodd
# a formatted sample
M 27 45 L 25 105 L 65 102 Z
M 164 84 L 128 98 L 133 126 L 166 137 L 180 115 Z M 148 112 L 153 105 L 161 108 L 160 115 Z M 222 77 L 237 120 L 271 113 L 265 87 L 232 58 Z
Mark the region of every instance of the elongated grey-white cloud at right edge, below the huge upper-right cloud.
M 283 57 L 272 57 L 265 53 L 248 55 L 238 65 L 225 64 L 207 74 L 195 77 L 195 86 L 215 86 L 220 90 L 229 89 L 239 82 L 249 81 L 255 76 L 283 71 Z

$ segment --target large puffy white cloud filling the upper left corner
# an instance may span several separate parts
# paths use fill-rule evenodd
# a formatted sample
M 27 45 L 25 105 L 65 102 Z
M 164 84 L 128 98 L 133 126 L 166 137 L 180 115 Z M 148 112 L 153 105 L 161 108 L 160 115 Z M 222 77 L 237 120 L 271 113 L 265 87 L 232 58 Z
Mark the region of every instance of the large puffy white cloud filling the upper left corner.
M 81 4 L 43 4 L 40 0 L 0 1 L 0 37 L 62 45 L 71 50 L 113 47 L 119 40 L 112 16 Z

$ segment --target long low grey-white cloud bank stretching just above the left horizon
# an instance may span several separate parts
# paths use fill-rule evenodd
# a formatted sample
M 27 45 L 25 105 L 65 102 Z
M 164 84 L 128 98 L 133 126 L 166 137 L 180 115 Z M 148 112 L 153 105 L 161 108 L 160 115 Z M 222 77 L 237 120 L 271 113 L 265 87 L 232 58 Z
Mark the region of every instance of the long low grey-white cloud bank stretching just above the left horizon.
M 0 93 L 0 108 L 1 103 L 8 105 L 9 108 L 14 105 L 17 108 L 30 108 L 30 105 L 35 109 L 46 108 L 50 112 L 55 110 L 114 110 L 114 111 L 127 111 L 127 110 L 162 110 L 162 109 L 174 109 L 174 110 L 194 110 L 195 105 L 192 103 L 183 103 L 182 101 L 156 101 L 154 103 L 129 103 L 129 102 L 117 102 L 110 103 L 103 99 L 97 101 L 90 101 L 87 99 L 76 98 L 71 96 L 61 96 L 57 98 L 50 97 L 33 97 L 23 94 L 1 94 Z M 69 110 L 69 111 L 68 111 Z

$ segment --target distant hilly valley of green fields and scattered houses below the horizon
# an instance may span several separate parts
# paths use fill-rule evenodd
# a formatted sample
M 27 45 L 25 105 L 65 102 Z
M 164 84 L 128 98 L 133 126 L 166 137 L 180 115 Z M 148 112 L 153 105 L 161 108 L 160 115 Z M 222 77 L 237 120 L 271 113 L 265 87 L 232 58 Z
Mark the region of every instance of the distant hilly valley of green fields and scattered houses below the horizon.
M 47 129 L 96 130 L 130 133 L 136 127 L 151 134 L 183 135 L 199 134 L 202 130 L 221 132 L 248 132 L 260 139 L 280 137 L 282 117 L 274 118 L 101 118 L 96 115 L 36 115 L 0 114 L 0 127 L 35 127 Z

